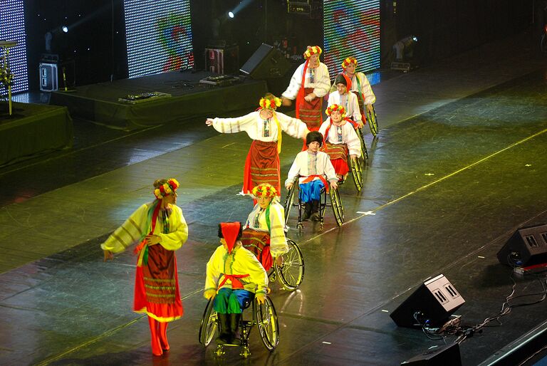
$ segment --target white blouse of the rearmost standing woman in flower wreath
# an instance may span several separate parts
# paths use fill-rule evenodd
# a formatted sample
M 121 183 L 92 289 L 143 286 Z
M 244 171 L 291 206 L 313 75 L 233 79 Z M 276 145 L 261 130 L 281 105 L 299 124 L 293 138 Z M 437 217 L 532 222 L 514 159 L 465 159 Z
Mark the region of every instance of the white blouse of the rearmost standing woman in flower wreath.
M 291 100 L 296 99 L 296 95 L 298 95 L 298 90 L 300 90 L 302 84 L 302 73 L 305 64 L 306 63 L 303 63 L 301 66 L 298 66 L 293 73 L 293 77 L 288 83 L 287 90 L 281 94 L 283 97 Z M 313 83 L 311 81 L 311 75 L 313 75 Z M 324 63 L 320 62 L 319 66 L 316 68 L 308 67 L 308 70 L 306 70 L 304 88 L 313 88 L 313 93 L 317 95 L 318 98 L 323 98 L 327 95 L 328 90 L 330 89 L 330 75 L 328 75 L 328 68 Z

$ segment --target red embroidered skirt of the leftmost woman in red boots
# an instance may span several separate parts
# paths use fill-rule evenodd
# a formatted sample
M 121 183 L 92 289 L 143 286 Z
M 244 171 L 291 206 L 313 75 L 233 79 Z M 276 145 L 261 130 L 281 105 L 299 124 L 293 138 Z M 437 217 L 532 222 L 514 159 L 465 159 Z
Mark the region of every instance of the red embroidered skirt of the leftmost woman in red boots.
M 182 301 L 174 251 L 160 244 L 148 247 L 148 263 L 137 266 L 133 310 L 160 322 L 182 317 Z

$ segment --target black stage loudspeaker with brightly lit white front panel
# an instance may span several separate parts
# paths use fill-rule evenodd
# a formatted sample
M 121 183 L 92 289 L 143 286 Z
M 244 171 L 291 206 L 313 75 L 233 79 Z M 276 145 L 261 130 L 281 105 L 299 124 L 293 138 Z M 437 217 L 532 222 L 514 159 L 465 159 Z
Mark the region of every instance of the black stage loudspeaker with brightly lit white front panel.
M 400 327 L 440 327 L 464 303 L 464 298 L 441 274 L 422 283 L 390 317 Z

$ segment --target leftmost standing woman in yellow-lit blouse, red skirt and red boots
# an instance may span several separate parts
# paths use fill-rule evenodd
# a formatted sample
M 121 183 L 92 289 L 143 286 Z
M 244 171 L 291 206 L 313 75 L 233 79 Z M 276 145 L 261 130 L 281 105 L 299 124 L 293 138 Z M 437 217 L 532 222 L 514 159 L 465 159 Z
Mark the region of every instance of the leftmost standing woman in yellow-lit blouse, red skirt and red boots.
M 156 200 L 140 206 L 100 245 L 108 261 L 113 253 L 141 241 L 134 250 L 138 259 L 133 311 L 148 315 L 155 356 L 170 350 L 167 324 L 183 313 L 174 251 L 187 241 L 188 226 L 176 205 L 178 187 L 176 179 L 156 180 Z

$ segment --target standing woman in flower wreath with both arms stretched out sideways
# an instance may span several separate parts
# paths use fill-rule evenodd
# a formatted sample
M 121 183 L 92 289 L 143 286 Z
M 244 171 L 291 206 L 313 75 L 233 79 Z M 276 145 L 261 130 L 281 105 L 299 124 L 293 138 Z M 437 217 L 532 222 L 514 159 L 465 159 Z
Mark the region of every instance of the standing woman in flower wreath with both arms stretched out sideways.
M 253 140 L 245 161 L 243 194 L 252 194 L 260 183 L 269 183 L 281 192 L 279 152 L 281 131 L 301 139 L 309 132 L 306 124 L 296 118 L 277 113 L 281 99 L 268 93 L 261 98 L 259 109 L 236 118 L 207 118 L 205 123 L 221 133 L 244 131 Z

